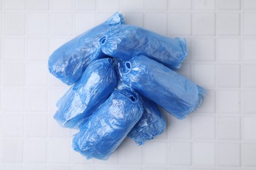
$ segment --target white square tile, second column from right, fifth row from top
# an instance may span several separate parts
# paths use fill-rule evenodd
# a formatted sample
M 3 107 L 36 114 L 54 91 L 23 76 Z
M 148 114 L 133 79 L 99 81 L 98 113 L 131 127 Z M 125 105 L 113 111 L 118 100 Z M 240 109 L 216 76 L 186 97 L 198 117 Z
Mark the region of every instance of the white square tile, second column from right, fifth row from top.
M 240 112 L 240 92 L 239 91 L 220 90 L 218 101 L 219 101 L 219 112 L 224 114 L 238 114 Z

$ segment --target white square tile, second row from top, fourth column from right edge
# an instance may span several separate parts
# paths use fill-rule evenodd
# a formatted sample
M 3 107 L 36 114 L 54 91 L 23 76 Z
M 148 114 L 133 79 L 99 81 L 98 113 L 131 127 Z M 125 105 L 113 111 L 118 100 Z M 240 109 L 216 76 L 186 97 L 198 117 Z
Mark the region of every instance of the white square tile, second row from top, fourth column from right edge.
M 191 35 L 191 14 L 172 13 L 169 16 L 170 35 Z

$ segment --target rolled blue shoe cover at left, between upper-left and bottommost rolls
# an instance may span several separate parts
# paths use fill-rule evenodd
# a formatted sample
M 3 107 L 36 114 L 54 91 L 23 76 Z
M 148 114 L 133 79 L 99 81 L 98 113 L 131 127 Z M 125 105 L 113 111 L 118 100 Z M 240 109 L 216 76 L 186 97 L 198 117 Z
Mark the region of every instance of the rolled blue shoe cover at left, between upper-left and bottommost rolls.
M 57 102 L 54 119 L 64 127 L 80 127 L 112 93 L 117 84 L 112 59 L 91 62 L 78 82 Z

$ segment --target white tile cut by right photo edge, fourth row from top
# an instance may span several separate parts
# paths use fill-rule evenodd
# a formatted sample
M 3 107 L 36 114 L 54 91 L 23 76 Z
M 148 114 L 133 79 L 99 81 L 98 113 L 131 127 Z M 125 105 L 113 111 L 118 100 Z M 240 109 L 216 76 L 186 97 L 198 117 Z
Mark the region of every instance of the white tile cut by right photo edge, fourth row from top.
M 256 65 L 242 66 L 242 85 L 246 88 L 256 87 Z

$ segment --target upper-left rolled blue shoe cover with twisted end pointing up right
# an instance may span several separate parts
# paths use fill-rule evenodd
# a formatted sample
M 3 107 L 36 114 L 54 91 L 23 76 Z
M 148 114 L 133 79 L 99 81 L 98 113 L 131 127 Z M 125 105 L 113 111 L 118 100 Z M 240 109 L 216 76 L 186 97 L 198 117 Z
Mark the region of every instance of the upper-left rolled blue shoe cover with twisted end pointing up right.
M 60 46 L 49 58 L 50 73 L 65 84 L 74 84 L 91 61 L 105 57 L 101 51 L 100 37 L 110 27 L 118 24 L 124 24 L 124 20 L 123 16 L 116 12 L 106 22 Z

